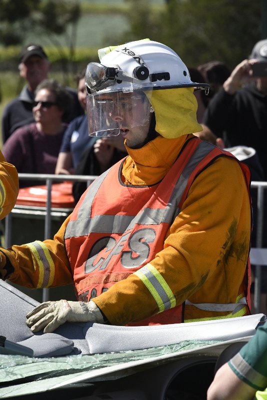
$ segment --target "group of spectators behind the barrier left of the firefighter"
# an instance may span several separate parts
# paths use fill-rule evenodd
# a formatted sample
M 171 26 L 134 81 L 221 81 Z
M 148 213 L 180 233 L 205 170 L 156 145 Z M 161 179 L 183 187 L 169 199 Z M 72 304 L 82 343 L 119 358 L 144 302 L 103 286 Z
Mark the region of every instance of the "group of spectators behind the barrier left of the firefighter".
M 124 139 L 88 136 L 85 69 L 76 75 L 74 90 L 49 79 L 50 67 L 39 44 L 21 49 L 18 70 L 25 85 L 1 115 L 3 154 L 18 172 L 98 175 L 126 155 Z M 75 186 L 75 201 L 85 188 L 83 182 Z

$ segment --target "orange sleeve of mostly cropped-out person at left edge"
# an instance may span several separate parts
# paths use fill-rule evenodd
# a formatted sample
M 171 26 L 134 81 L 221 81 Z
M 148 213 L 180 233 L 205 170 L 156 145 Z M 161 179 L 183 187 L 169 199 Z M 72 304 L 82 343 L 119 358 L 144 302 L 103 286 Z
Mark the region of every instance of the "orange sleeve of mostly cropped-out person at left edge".
M 0 151 L 0 219 L 13 208 L 18 193 L 18 176 L 14 165 L 6 162 Z

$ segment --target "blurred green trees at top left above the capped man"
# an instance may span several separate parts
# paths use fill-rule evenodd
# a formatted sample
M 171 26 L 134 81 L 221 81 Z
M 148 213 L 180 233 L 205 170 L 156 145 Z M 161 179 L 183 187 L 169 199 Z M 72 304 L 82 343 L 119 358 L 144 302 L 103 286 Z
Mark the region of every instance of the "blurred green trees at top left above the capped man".
M 61 69 L 73 72 L 76 29 L 80 17 L 79 1 L 66 0 L 0 0 L 0 44 L 3 46 L 24 43 L 27 33 L 45 36 L 59 53 Z M 64 45 L 58 40 L 64 36 Z

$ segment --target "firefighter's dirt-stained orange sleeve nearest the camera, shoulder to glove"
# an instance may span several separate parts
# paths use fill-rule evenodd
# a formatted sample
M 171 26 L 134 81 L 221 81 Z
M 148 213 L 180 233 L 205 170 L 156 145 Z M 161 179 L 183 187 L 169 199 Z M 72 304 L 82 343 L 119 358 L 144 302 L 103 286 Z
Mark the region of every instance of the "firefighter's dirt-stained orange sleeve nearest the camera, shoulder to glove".
M 237 222 L 240 241 L 232 248 Z M 175 305 L 188 298 L 192 302 L 224 303 L 229 299 L 231 279 L 237 279 L 235 287 L 241 285 L 249 240 L 249 196 L 242 171 L 235 160 L 219 157 L 195 178 L 167 232 L 164 248 L 150 261 L 149 268 L 164 279 Z M 229 251 L 236 258 L 235 275 L 223 270 L 216 275 Z M 197 301 L 193 296 L 204 283 L 209 285 L 205 301 Z M 216 301 L 212 301 L 214 296 Z M 93 301 L 111 324 L 124 325 L 159 312 L 155 298 L 136 273 L 116 282 Z

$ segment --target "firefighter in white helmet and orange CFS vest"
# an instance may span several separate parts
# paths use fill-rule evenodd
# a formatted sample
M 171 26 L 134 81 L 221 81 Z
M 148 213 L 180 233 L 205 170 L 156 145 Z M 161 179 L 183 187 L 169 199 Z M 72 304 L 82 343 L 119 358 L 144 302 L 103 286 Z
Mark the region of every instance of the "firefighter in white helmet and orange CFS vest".
M 249 313 L 249 170 L 192 133 L 195 89 L 166 45 L 144 39 L 87 65 L 90 135 L 121 134 L 128 156 L 87 188 L 53 240 L 0 248 L 3 279 L 74 282 L 78 301 L 46 301 L 33 332 L 65 321 L 149 325 Z

